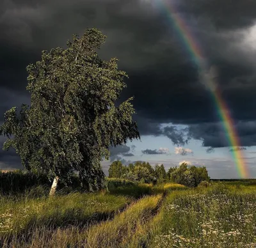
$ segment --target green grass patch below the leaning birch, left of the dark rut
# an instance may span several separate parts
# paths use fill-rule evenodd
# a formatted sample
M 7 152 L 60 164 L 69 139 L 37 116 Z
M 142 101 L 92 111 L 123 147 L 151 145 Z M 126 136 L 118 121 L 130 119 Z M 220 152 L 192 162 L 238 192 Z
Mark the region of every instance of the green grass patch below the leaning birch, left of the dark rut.
M 84 226 L 102 221 L 131 203 L 125 196 L 79 192 L 54 198 L 21 198 L 2 201 L 0 208 L 0 238 L 14 233 L 28 233 L 40 226 L 51 228 L 68 225 Z

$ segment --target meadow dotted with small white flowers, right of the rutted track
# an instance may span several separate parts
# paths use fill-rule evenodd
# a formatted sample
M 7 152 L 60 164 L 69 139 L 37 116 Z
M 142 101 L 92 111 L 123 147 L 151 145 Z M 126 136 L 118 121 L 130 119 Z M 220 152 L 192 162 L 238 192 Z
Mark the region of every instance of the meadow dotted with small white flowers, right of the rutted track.
M 256 247 L 256 187 L 216 183 L 172 192 L 150 247 Z

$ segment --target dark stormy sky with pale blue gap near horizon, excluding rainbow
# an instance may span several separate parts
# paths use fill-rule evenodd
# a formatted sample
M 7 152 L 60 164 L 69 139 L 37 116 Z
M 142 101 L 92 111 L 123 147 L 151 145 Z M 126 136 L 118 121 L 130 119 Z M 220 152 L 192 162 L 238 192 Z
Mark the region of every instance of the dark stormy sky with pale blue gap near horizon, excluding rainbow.
M 172 11 L 170 6 L 172 6 Z M 72 34 L 96 27 L 108 36 L 102 59 L 120 59 L 129 79 L 119 102 L 134 96 L 141 141 L 110 148 L 114 160 L 206 166 L 211 178 L 239 178 L 241 150 L 256 178 L 256 1 L 222 0 L 3 0 L 0 1 L 0 124 L 4 112 L 30 104 L 26 66 L 42 50 L 66 47 Z M 216 103 L 202 81 L 173 17 L 186 24 L 228 106 L 239 147 L 230 147 Z M 5 138 L 0 137 L 0 146 Z M 0 150 L 0 168 L 20 168 L 14 150 Z M 108 174 L 108 173 L 107 173 Z

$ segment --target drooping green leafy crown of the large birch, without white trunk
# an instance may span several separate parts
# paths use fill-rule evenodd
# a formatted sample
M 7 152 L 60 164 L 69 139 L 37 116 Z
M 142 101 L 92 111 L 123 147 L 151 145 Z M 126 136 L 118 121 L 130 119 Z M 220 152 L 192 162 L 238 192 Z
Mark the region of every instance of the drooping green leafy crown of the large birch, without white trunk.
M 6 111 L 0 135 L 8 137 L 4 150 L 15 148 L 28 171 L 59 176 L 65 184 L 77 171 L 85 189 L 97 190 L 104 187 L 100 161 L 109 158 L 109 146 L 140 138 L 132 98 L 115 106 L 127 75 L 116 58 L 99 58 L 96 49 L 105 38 L 86 29 L 67 49 L 44 50 L 27 66 L 31 107 L 22 104 L 19 116 L 16 107 Z

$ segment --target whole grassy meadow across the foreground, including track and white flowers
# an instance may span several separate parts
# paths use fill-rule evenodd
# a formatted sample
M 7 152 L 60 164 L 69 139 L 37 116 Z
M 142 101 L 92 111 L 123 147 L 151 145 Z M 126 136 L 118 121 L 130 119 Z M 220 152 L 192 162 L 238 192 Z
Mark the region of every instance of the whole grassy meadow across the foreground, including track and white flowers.
M 256 247 L 256 183 L 0 198 L 0 247 Z

